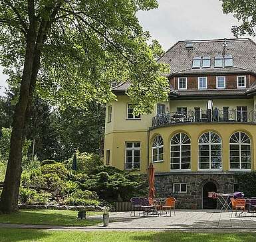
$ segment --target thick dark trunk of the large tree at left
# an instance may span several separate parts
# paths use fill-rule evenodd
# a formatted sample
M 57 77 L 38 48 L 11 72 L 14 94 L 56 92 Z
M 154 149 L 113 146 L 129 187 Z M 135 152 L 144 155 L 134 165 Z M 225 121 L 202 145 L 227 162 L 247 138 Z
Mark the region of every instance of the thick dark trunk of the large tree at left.
M 19 185 L 21 180 L 22 147 L 24 143 L 24 130 L 26 110 L 29 101 L 29 89 L 33 70 L 33 60 L 36 43 L 36 27 L 31 25 L 27 34 L 27 46 L 19 101 L 15 106 L 13 115 L 13 131 L 11 133 L 11 147 L 1 194 L 0 211 L 3 213 L 16 212 L 18 210 Z

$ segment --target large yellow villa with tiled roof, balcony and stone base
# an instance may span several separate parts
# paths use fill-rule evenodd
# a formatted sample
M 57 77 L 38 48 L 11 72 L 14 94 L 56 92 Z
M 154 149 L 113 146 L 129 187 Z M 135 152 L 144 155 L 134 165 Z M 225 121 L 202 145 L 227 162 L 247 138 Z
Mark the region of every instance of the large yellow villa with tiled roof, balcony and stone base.
M 146 173 L 158 196 L 178 193 L 180 208 L 216 208 L 208 192 L 236 190 L 235 174 L 256 170 L 256 44 L 249 38 L 179 41 L 170 64 L 169 100 L 136 116 L 128 83 L 106 105 L 104 163 Z

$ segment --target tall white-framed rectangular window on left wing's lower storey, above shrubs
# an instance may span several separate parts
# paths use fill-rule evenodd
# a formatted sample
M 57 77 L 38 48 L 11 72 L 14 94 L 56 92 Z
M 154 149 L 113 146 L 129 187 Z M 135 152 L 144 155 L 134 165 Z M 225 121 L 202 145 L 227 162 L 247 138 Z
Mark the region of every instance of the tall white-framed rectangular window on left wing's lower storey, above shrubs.
M 126 142 L 126 170 L 140 168 L 140 142 Z

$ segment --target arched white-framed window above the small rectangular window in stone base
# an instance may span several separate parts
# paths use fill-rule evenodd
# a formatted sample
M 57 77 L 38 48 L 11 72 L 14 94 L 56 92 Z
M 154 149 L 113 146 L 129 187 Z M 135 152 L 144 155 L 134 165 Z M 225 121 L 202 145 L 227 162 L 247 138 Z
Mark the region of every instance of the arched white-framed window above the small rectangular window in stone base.
M 171 140 L 171 170 L 190 169 L 190 137 L 178 133 Z

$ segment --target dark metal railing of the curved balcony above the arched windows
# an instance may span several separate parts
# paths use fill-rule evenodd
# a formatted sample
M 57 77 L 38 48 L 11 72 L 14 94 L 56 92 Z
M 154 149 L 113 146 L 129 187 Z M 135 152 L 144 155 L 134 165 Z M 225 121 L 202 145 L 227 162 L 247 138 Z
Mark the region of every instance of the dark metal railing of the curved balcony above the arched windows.
M 186 113 L 170 112 L 156 115 L 152 118 L 152 128 L 173 125 L 176 123 L 219 123 L 239 122 L 255 123 L 255 111 L 239 110 L 198 110 L 187 111 Z

